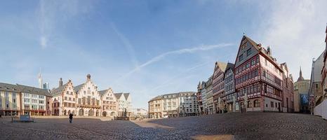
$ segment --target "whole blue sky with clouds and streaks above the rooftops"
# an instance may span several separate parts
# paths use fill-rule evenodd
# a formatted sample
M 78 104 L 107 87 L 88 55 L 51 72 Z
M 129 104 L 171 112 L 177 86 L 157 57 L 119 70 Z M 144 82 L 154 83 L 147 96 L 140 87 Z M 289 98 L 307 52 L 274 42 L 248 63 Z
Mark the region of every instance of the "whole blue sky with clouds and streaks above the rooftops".
M 215 61 L 233 62 L 245 33 L 270 45 L 294 79 L 324 48 L 327 2 L 6 1 L 0 4 L 0 82 L 50 87 L 90 73 L 100 90 L 131 92 L 147 109 L 159 94 L 196 91 Z

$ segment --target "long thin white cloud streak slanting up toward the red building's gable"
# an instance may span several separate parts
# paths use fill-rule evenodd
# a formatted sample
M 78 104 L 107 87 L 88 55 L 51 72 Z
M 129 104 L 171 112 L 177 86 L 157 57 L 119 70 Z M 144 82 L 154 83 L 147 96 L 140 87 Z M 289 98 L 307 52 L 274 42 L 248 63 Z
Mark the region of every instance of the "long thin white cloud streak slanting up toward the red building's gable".
M 130 76 L 132 73 L 135 73 L 136 71 L 142 69 L 145 66 L 148 66 L 149 64 L 153 64 L 154 62 L 160 61 L 161 59 L 163 59 L 164 57 L 166 57 L 168 55 L 180 55 L 180 54 L 184 54 L 184 53 L 192 53 L 192 52 L 197 52 L 197 51 L 201 51 L 201 50 L 213 50 L 213 49 L 217 49 L 217 48 L 227 47 L 229 45 L 233 45 L 233 44 L 232 43 L 220 43 L 217 45 L 200 45 L 200 46 L 197 46 L 194 48 L 184 48 L 184 49 L 180 49 L 180 50 L 164 52 L 161 55 L 157 55 L 156 57 L 149 59 L 147 62 L 140 64 L 135 69 L 129 71 L 124 76 L 122 76 L 119 80 L 122 80 L 122 79 Z

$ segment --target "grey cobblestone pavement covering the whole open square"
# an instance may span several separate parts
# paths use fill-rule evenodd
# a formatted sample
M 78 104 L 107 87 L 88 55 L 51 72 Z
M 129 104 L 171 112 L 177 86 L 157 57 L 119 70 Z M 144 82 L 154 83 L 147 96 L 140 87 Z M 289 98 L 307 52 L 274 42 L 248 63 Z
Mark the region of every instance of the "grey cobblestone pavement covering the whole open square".
M 0 139 L 327 139 L 327 121 L 295 113 L 225 113 L 124 121 L 36 118 L 11 123 L 0 118 Z

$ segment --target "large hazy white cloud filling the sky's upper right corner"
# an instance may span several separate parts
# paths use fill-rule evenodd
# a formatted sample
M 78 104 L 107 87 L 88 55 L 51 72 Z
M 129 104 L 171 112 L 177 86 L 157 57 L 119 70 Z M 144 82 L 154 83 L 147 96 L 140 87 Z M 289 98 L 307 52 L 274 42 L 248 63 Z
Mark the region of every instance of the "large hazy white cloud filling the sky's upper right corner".
M 271 46 L 279 63 L 288 64 L 294 80 L 298 78 L 300 66 L 305 78 L 309 78 L 312 58 L 319 57 L 324 48 L 327 1 L 272 1 L 265 4 L 262 13 L 266 15 L 260 23 L 258 38 Z

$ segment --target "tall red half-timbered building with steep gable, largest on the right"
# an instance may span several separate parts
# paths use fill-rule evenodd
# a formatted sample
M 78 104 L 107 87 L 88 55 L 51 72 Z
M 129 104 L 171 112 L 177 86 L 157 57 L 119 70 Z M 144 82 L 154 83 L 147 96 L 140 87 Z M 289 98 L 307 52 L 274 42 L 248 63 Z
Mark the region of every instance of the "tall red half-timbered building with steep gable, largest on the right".
M 282 73 L 269 47 L 266 50 L 260 43 L 243 36 L 234 65 L 240 109 L 281 111 Z

